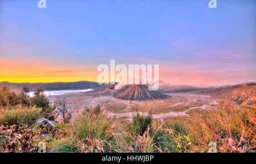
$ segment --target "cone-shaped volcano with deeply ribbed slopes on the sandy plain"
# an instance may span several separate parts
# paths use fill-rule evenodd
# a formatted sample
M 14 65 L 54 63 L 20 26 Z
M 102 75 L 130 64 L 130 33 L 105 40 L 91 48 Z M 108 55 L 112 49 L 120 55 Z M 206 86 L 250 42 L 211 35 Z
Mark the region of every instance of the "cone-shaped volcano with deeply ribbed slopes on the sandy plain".
M 148 90 L 146 85 L 133 85 L 125 92 L 119 93 L 114 96 L 123 100 L 153 100 L 168 98 L 170 96 L 156 92 L 155 90 Z

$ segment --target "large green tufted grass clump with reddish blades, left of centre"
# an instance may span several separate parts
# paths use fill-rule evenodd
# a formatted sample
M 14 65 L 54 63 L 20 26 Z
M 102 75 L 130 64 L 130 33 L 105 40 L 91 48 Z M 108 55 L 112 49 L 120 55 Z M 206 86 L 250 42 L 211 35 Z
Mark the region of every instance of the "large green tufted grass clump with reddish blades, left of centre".
M 118 120 L 110 119 L 97 106 L 77 113 L 69 137 L 56 141 L 51 152 L 119 152 L 115 133 Z

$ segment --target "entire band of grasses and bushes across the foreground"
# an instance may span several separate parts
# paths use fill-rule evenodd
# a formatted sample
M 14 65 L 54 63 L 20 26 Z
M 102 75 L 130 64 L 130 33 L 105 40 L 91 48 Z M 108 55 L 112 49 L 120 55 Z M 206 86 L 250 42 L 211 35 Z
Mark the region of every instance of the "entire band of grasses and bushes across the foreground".
M 0 152 L 38 152 L 43 144 L 46 152 L 214 152 L 214 143 L 217 152 L 255 152 L 255 109 L 223 102 L 216 110 L 195 111 L 187 119 L 155 122 L 151 113 L 134 113 L 127 123 L 108 118 L 102 106 L 81 109 L 75 104 L 80 102 L 74 102 L 80 107 L 73 119 L 61 119 L 52 115 L 58 107 L 47 103 L 43 90 L 37 97 L 23 97 L 25 101 L 17 98 L 22 94 L 9 92 L 0 91 Z M 55 120 L 56 126 L 36 124 L 39 118 Z

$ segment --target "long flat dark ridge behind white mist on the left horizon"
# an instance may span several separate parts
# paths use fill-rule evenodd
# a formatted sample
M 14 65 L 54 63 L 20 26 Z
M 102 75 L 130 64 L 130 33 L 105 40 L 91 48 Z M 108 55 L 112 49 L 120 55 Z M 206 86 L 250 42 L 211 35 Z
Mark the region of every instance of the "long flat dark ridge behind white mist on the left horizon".
M 10 83 L 7 81 L 0 82 L 0 87 L 6 86 L 17 92 L 22 90 L 26 85 L 30 91 L 34 91 L 37 87 L 43 87 L 44 90 L 75 90 L 75 89 L 94 89 L 100 87 L 100 84 L 92 81 L 77 82 L 55 82 L 55 83 Z

